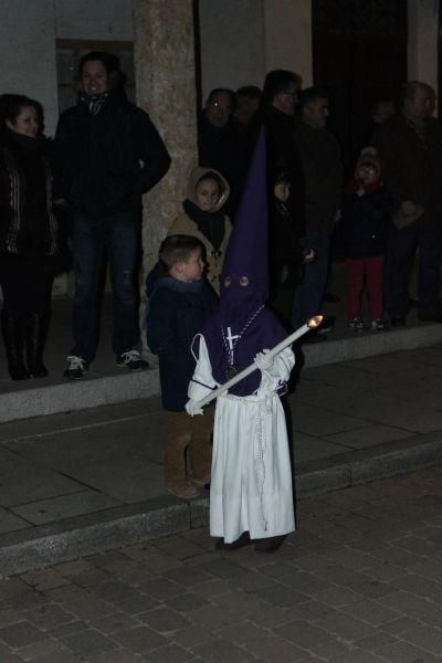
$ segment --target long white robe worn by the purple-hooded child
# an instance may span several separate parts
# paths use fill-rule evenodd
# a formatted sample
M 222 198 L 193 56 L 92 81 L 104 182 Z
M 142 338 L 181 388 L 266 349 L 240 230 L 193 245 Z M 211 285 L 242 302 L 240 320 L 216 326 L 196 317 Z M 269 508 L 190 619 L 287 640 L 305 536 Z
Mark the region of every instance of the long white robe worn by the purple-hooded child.
M 286 348 L 263 371 L 253 396 L 229 393 L 217 400 L 210 482 L 210 534 L 227 544 L 243 532 L 252 539 L 294 532 L 292 472 L 285 415 L 276 389 L 288 380 L 295 358 Z M 201 400 L 218 387 L 206 340 L 189 398 Z

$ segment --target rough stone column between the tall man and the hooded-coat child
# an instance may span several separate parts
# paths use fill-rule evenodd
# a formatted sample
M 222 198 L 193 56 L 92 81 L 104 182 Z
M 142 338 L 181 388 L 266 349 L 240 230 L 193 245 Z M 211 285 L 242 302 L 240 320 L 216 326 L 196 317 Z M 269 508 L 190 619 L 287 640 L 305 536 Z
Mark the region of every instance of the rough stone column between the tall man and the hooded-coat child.
M 197 164 L 196 77 L 191 0 L 134 0 L 137 105 L 147 110 L 172 158 L 162 181 L 145 197 L 145 267 L 157 257 Z

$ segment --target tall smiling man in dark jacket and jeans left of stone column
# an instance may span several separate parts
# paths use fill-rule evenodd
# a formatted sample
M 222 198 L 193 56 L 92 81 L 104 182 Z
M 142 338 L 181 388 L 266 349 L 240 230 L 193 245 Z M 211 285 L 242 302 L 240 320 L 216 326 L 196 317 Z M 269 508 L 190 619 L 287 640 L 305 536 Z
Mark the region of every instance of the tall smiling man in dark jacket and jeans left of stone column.
M 98 341 L 97 288 L 107 250 L 114 293 L 117 366 L 140 370 L 134 272 L 141 194 L 167 172 L 170 158 L 148 115 L 124 94 L 119 61 L 92 52 L 78 65 L 80 99 L 60 117 L 55 191 L 73 211 L 74 347 L 66 378 L 81 378 Z

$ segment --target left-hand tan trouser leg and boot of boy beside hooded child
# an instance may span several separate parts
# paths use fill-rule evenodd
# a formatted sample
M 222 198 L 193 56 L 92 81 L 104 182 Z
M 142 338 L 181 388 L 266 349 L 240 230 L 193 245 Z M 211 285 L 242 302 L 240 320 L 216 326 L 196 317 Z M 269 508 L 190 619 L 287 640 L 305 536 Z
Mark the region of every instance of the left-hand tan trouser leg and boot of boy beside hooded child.
M 169 493 L 181 499 L 197 497 L 199 492 L 187 478 L 186 449 L 191 424 L 187 412 L 167 412 L 165 430 L 165 478 Z

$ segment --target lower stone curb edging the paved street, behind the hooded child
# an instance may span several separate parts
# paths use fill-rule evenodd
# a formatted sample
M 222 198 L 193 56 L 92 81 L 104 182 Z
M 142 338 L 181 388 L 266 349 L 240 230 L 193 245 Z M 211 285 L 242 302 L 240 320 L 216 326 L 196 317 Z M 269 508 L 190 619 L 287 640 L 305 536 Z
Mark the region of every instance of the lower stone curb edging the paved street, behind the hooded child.
M 349 488 L 430 467 L 441 461 L 442 431 L 413 435 L 334 459 L 299 464 L 296 496 L 302 498 Z M 187 503 L 165 496 L 2 535 L 0 577 L 202 527 L 208 522 L 208 507 L 207 497 Z

